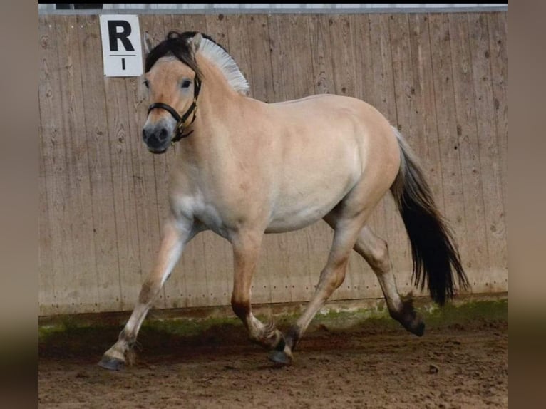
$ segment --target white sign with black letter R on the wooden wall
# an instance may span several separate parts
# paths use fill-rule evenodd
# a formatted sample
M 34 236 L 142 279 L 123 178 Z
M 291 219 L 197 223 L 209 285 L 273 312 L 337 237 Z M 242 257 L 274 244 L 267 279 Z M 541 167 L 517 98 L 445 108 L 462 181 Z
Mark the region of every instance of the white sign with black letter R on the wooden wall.
M 143 74 L 138 16 L 101 16 L 103 66 L 107 77 L 138 77 Z

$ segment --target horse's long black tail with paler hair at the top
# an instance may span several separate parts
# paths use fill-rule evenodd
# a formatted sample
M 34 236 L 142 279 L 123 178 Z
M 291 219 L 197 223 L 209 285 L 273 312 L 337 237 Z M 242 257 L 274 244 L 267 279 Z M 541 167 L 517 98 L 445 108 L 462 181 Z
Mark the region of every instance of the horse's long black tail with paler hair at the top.
M 468 289 L 470 284 L 460 264 L 453 234 L 438 212 L 423 170 L 398 130 L 393 130 L 400 146 L 401 163 L 391 192 L 411 242 L 414 284 L 422 290 L 428 282 L 431 298 L 443 305 L 455 294 L 453 271 L 459 286 Z

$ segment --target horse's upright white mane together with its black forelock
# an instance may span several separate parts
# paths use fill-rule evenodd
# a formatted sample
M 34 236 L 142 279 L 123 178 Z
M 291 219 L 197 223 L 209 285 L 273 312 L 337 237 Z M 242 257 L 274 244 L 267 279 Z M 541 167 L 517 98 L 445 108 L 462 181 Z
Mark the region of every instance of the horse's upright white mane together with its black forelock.
M 146 56 L 145 72 L 150 71 L 158 59 L 165 56 L 174 56 L 195 71 L 198 77 L 202 78 L 202 72 L 199 66 L 197 66 L 197 61 L 195 61 L 195 56 L 189 43 L 190 39 L 196 34 L 197 31 L 185 31 L 184 33 L 170 31 L 165 40 L 155 46 L 153 50 L 148 53 L 148 56 Z M 242 75 L 241 70 L 232 56 L 227 53 L 225 48 L 220 46 L 220 44 L 214 41 L 210 36 L 207 36 L 207 34 L 201 33 L 201 36 L 202 40 L 197 49 L 197 53 L 200 53 L 217 66 L 222 74 L 224 74 L 227 83 L 229 83 L 234 90 L 238 93 L 247 95 L 250 88 L 248 81 Z

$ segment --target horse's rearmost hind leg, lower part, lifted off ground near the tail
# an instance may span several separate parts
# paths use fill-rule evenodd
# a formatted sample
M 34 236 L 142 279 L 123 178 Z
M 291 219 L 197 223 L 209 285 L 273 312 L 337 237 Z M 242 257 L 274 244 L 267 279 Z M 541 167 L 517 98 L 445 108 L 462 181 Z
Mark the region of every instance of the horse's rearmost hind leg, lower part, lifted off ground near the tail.
M 374 270 L 383 290 L 391 317 L 400 322 L 411 333 L 422 336 L 425 331 L 425 324 L 413 309 L 411 298 L 402 300 L 400 294 L 398 294 L 398 289 L 396 289 L 396 280 L 394 279 L 385 240 L 377 237 L 369 227 L 365 226 L 356 240 L 354 249 L 366 259 L 371 269 Z

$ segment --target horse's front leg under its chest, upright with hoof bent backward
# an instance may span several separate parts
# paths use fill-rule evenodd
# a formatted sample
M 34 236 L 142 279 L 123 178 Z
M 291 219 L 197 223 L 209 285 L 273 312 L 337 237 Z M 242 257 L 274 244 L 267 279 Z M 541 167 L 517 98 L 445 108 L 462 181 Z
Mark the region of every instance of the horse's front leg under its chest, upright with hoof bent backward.
M 278 348 L 281 343 L 284 345 L 284 337 L 274 324 L 264 325 L 259 321 L 252 314 L 250 304 L 250 287 L 262 246 L 262 237 L 262 232 L 237 232 L 231 237 L 235 269 L 231 304 L 235 314 L 246 326 L 251 341 L 271 349 Z

